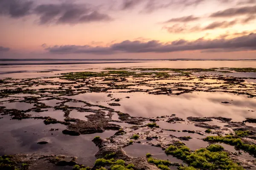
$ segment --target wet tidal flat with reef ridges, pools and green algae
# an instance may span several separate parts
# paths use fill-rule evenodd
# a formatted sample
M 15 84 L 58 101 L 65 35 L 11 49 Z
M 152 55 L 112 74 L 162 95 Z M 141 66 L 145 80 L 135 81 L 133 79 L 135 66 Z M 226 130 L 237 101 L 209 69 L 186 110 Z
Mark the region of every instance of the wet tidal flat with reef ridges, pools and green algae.
M 0 79 L 2 170 L 256 170 L 256 68 Z

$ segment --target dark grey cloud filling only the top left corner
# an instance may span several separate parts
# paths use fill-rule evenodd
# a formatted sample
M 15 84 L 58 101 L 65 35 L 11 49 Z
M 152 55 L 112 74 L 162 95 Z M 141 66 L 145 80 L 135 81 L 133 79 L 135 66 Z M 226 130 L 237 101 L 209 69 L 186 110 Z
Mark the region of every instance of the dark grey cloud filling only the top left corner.
M 33 6 L 32 1 L 27 0 L 0 0 L 0 14 L 13 18 L 29 15 Z

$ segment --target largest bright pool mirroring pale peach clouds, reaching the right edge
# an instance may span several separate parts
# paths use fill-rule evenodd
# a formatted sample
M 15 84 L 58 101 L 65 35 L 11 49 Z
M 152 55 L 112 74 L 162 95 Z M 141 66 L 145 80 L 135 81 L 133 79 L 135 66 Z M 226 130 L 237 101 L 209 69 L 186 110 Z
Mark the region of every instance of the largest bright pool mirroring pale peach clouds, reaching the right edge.
M 113 95 L 113 97 L 115 96 Z M 227 99 L 234 99 L 236 103 L 228 106 L 221 103 Z M 201 92 L 179 96 L 132 93 L 130 99 L 122 99 L 120 104 L 121 106 L 113 108 L 129 113 L 131 116 L 156 117 L 172 114 L 177 114 L 182 118 L 188 116 L 225 116 L 233 118 L 234 121 L 242 121 L 245 117 L 250 117 L 253 114 L 247 110 L 255 108 L 256 99 L 221 92 Z

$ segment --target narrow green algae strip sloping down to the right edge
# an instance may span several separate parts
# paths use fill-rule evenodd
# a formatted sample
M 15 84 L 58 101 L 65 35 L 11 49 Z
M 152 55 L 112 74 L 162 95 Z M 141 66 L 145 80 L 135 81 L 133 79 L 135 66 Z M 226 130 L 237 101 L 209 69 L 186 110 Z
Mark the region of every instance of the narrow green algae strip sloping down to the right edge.
M 256 157 L 256 144 L 245 144 L 238 136 L 207 136 L 204 141 L 230 144 L 232 146 L 235 146 L 236 149 L 244 150 L 245 152 L 248 152 Z

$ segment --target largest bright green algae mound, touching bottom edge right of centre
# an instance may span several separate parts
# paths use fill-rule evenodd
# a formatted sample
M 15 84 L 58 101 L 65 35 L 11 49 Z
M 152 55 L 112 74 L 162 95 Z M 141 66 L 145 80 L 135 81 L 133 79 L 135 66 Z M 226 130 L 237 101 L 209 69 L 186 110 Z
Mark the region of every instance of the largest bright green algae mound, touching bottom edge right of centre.
M 223 149 L 221 145 L 212 144 L 207 148 L 201 148 L 193 152 L 185 145 L 180 144 L 179 146 L 170 145 L 165 152 L 185 161 L 190 167 L 194 168 L 203 170 L 244 170 L 243 167 L 233 162 L 228 153 L 222 151 Z M 182 169 L 182 167 L 180 168 Z M 189 167 L 185 167 L 186 169 L 189 170 Z

